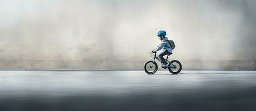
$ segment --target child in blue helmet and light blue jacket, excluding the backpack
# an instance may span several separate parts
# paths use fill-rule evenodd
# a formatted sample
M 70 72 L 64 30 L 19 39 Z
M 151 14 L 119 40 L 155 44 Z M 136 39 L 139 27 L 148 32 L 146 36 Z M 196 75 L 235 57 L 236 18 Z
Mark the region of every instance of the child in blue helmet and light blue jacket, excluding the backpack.
M 165 37 L 166 36 L 165 31 L 159 31 L 157 33 L 157 36 L 158 36 L 158 39 L 161 40 L 161 43 L 152 52 L 157 52 L 162 48 L 164 49 L 164 51 L 162 53 L 158 54 L 158 57 L 160 58 L 160 61 L 162 63 L 161 67 L 166 67 L 168 63 L 165 61 L 163 56 L 172 53 L 173 49 L 172 49 L 172 47 L 170 47 L 170 44 L 168 43 L 168 38 Z

